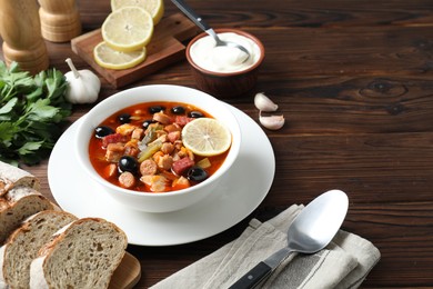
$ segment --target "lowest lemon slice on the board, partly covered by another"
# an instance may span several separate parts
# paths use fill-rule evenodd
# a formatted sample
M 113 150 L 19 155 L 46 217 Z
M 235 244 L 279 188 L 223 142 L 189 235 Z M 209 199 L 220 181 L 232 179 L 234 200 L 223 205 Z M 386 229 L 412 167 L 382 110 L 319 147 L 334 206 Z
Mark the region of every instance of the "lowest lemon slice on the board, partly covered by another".
M 103 68 L 115 70 L 128 69 L 144 61 L 145 48 L 132 52 L 121 52 L 112 49 L 102 41 L 94 47 L 93 58 Z

